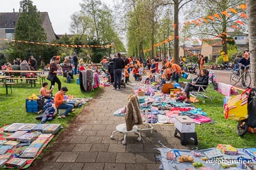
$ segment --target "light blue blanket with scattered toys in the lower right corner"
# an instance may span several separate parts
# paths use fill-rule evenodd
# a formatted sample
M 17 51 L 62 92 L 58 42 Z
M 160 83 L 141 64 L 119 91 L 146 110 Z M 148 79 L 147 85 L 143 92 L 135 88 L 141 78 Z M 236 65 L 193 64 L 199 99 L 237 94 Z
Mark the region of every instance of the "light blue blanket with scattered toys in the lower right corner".
M 165 146 L 164 146 L 165 147 Z M 256 148 L 237 149 L 232 145 L 218 145 L 205 150 L 156 148 L 161 155 L 159 169 L 256 169 Z

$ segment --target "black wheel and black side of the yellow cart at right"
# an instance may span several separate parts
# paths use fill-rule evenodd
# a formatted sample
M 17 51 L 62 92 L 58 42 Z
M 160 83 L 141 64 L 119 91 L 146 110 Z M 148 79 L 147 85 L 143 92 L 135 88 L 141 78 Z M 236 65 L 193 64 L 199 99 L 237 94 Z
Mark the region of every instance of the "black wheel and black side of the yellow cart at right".
M 236 132 L 239 136 L 244 136 L 248 132 L 248 128 L 256 127 L 256 89 L 252 89 L 248 96 L 248 118 L 240 120 L 237 124 Z

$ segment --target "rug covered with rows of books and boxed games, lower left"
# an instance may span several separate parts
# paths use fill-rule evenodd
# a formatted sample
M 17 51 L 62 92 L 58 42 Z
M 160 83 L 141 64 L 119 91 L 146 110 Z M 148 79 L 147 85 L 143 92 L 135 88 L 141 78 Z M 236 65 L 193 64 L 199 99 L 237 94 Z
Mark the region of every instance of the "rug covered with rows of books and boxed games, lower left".
M 0 167 L 26 169 L 61 129 L 61 124 L 13 123 L 0 128 Z

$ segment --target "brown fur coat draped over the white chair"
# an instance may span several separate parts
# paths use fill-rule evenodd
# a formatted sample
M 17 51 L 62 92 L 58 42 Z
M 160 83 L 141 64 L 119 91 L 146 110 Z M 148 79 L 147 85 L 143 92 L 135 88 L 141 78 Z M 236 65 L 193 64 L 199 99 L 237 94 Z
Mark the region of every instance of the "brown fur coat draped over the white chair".
M 140 103 L 138 97 L 134 94 L 130 94 L 128 97 L 125 124 L 127 131 L 131 131 L 134 125 L 143 124 L 143 120 L 141 118 Z

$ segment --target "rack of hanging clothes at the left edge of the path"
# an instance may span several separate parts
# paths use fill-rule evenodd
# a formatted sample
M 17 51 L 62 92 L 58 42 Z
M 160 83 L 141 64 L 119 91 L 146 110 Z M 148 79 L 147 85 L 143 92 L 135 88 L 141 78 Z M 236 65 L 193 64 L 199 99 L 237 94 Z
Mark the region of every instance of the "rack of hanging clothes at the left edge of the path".
M 100 85 L 99 74 L 92 69 L 86 69 L 79 73 L 79 83 L 82 92 L 90 92 Z

